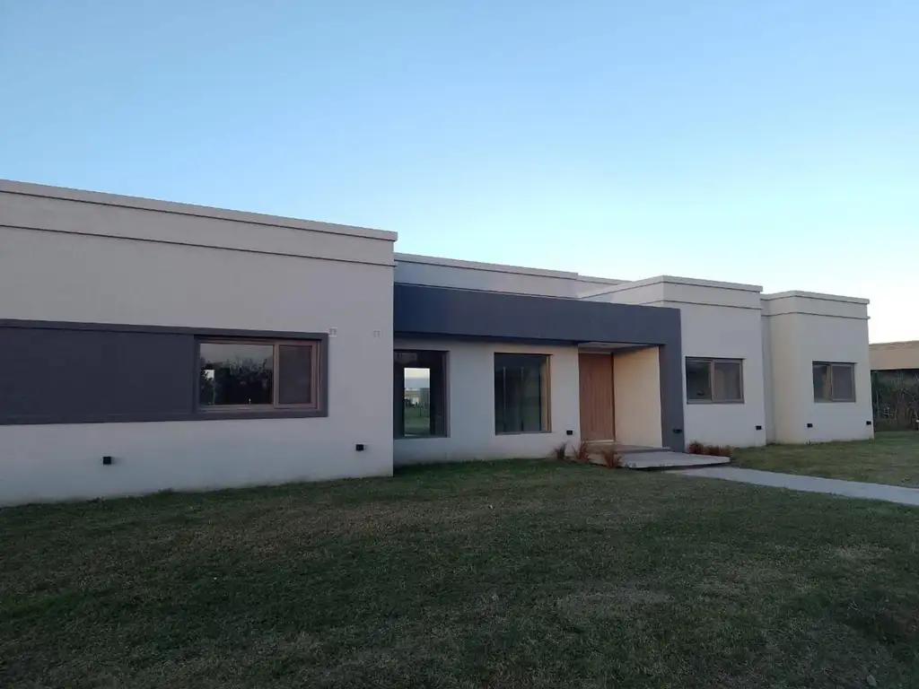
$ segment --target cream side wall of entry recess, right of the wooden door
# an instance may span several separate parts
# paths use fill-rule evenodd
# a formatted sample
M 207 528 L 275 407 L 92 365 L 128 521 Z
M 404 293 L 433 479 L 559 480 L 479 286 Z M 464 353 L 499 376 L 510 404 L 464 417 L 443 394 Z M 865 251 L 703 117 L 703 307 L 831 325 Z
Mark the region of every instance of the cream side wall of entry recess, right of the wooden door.
M 661 365 L 657 347 L 613 355 L 616 440 L 623 445 L 660 447 Z

